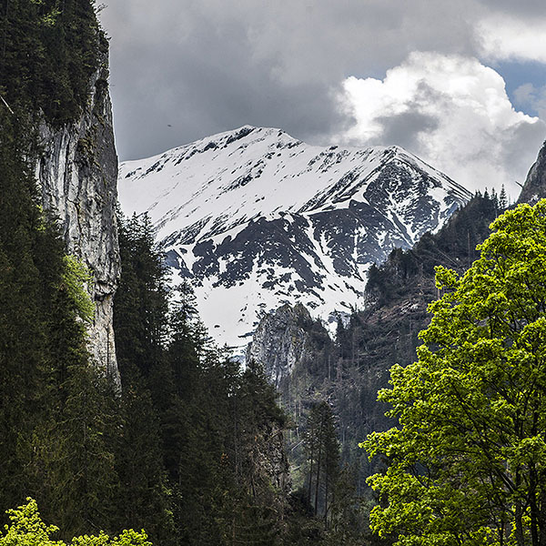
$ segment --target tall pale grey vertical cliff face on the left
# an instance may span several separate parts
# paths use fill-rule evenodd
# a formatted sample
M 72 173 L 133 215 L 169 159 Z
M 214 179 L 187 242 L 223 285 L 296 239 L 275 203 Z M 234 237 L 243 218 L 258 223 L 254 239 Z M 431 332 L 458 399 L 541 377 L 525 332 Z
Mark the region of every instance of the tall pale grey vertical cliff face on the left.
M 97 364 L 119 384 L 112 328 L 113 297 L 119 275 L 116 228 L 117 157 L 108 94 L 107 57 L 90 81 L 80 119 L 54 129 L 39 127 L 41 157 L 36 178 L 43 204 L 59 219 L 67 251 L 82 259 L 95 283 L 95 320 L 89 349 Z

